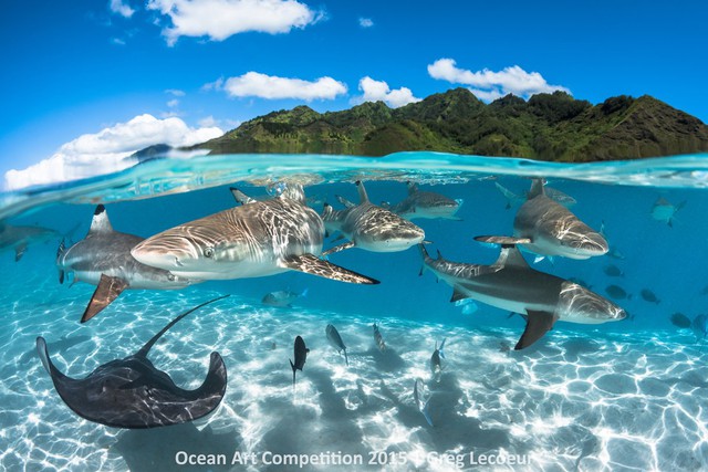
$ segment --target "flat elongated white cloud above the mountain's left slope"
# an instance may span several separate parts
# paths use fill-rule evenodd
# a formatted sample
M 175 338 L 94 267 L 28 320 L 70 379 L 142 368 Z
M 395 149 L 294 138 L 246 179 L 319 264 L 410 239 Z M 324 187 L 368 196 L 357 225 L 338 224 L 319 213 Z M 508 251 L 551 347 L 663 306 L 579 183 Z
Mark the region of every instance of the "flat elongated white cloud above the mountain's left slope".
M 205 85 L 205 87 L 210 84 Z M 217 81 L 214 87 L 220 87 L 232 97 L 256 96 L 260 98 L 300 98 L 304 101 L 332 99 L 346 93 L 346 85 L 332 77 L 320 77 L 314 82 L 301 78 L 278 77 L 274 75 L 247 72 L 226 82 Z

